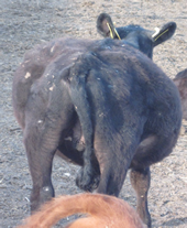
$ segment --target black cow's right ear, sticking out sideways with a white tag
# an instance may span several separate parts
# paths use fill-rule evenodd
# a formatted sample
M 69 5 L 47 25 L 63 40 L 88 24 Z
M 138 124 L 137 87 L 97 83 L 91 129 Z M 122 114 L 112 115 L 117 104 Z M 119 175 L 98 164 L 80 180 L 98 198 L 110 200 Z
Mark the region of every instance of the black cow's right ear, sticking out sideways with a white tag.
M 161 29 L 156 28 L 155 33 L 152 35 L 153 39 L 153 45 L 157 46 L 158 44 L 167 41 L 169 37 L 172 37 L 175 33 L 177 25 L 175 22 L 168 22 L 164 24 Z

